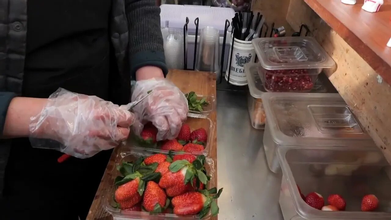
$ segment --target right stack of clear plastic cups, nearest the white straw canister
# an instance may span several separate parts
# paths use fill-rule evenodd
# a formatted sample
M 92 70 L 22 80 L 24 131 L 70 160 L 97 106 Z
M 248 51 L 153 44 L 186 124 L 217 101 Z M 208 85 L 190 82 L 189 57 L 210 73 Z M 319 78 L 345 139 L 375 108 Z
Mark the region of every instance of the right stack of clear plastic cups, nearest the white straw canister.
M 220 80 L 219 46 L 219 30 L 214 27 L 203 28 L 195 60 L 195 70 L 215 74 L 216 81 Z

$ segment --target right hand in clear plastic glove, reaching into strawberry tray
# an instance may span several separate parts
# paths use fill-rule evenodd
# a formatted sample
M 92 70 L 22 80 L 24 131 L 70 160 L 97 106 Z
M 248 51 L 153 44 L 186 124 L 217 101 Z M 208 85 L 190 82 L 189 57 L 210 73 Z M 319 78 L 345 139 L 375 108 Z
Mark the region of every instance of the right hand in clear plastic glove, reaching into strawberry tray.
M 133 107 L 136 121 L 133 131 L 139 135 L 143 124 L 151 121 L 158 129 L 156 139 L 174 139 L 178 136 L 189 110 L 185 95 L 167 79 L 148 79 L 137 81 L 132 93 L 132 102 L 152 94 Z

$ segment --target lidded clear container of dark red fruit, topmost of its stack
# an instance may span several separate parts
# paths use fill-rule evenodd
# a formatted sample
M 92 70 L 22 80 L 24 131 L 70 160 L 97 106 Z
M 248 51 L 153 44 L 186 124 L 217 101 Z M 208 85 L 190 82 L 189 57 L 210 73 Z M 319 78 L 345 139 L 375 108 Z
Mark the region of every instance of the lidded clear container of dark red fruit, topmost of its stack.
M 334 60 L 312 37 L 256 38 L 253 45 L 268 92 L 308 92 L 324 68 Z

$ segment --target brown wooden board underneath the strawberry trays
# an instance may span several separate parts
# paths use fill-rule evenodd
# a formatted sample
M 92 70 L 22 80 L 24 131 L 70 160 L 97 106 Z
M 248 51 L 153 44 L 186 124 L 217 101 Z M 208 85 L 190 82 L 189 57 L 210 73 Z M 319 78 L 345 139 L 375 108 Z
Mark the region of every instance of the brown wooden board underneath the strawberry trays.
M 205 94 L 216 97 L 216 78 L 214 74 L 207 72 L 195 72 L 185 70 L 171 70 L 167 76 L 167 79 L 171 80 L 176 86 L 178 86 L 183 92 L 194 91 L 197 94 Z M 216 124 L 216 111 L 213 111 L 209 115 L 211 121 Z M 216 127 L 215 127 L 216 128 Z M 102 206 L 103 196 L 108 188 L 109 181 L 112 180 L 111 171 L 115 167 L 117 155 L 121 152 L 124 147 L 117 147 L 113 151 L 109 160 L 106 171 L 100 181 L 98 191 L 92 202 L 90 211 L 87 216 L 87 220 L 112 220 L 113 217 L 104 210 Z M 217 170 L 217 135 L 216 129 L 212 131 L 212 137 L 210 142 L 210 149 L 208 157 L 214 160 L 215 170 Z M 213 175 L 213 181 L 217 183 L 217 172 Z M 217 217 L 212 218 L 217 220 Z

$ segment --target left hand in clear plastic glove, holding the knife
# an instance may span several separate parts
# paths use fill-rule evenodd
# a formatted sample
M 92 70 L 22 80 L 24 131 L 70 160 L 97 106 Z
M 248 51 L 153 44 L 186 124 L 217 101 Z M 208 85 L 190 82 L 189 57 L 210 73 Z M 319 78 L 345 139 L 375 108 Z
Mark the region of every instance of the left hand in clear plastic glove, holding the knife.
M 118 146 L 129 135 L 133 113 L 96 96 L 60 88 L 30 122 L 30 142 L 78 158 Z

